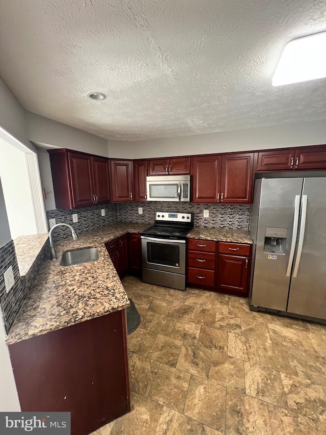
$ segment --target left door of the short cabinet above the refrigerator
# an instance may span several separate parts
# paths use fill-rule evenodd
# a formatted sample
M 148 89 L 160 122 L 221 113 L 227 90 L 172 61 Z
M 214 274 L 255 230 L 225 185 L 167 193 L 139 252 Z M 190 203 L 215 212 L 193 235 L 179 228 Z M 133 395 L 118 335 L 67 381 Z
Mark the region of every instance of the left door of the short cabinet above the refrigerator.
M 293 169 L 294 149 L 258 152 L 257 172 Z

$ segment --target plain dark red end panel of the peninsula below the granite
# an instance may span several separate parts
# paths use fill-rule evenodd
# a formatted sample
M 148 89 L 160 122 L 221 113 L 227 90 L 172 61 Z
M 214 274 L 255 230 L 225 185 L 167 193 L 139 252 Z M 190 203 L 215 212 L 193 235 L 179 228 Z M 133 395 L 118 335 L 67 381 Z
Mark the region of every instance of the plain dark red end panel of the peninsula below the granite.
M 125 310 L 8 347 L 21 411 L 71 412 L 72 435 L 130 411 Z

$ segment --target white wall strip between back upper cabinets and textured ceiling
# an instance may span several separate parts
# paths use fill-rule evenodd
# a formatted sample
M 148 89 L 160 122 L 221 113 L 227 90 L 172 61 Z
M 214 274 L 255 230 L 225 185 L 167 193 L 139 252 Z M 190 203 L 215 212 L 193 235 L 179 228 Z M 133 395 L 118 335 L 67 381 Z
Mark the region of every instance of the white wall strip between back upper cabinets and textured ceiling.
M 326 143 L 326 120 L 137 142 L 108 141 L 112 158 L 145 159 Z

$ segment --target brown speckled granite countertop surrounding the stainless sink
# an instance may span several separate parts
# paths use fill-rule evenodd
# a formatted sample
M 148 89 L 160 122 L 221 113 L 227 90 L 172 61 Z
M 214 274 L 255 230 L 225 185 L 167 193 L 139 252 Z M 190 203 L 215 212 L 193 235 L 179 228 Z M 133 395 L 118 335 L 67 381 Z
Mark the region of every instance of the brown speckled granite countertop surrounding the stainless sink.
M 9 332 L 7 345 L 126 308 L 128 296 L 105 243 L 127 233 L 141 233 L 149 226 L 119 222 L 80 234 L 75 241 L 69 237 L 55 243 L 58 260 L 45 261 L 41 266 Z M 63 252 L 83 247 L 98 248 L 99 260 L 60 266 Z

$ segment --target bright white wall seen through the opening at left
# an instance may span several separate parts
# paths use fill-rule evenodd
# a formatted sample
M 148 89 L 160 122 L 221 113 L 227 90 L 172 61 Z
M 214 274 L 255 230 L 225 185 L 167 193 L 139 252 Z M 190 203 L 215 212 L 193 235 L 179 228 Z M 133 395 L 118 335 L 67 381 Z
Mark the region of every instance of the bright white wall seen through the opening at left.
M 0 139 L 0 176 L 6 202 L 10 233 L 37 234 L 25 153 Z

